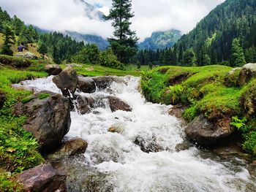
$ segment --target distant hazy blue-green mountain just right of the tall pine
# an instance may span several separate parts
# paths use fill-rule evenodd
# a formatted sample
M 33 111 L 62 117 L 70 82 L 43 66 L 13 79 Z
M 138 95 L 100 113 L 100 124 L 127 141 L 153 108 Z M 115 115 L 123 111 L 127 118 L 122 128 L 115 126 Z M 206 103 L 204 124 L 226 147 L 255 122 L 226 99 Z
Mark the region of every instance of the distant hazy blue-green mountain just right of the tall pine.
M 170 31 L 154 32 L 151 37 L 148 37 L 141 42 L 138 47 L 142 50 L 162 50 L 173 45 L 181 38 L 181 31 L 172 29 Z

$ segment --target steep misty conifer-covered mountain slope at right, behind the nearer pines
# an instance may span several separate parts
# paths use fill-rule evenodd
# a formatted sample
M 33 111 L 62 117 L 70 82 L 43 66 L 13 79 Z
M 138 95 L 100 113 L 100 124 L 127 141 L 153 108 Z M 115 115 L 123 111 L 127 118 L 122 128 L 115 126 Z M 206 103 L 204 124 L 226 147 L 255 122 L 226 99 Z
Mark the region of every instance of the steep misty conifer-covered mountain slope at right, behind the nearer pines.
M 213 9 L 189 34 L 181 37 L 174 46 L 174 63 L 184 64 L 184 52 L 191 47 L 197 55 L 199 65 L 203 65 L 200 55 L 204 50 L 210 56 L 211 64 L 230 61 L 232 42 L 235 38 L 240 39 L 245 52 L 255 49 L 255 30 L 256 1 L 227 0 Z M 246 55 L 247 62 L 248 58 L 249 55 Z

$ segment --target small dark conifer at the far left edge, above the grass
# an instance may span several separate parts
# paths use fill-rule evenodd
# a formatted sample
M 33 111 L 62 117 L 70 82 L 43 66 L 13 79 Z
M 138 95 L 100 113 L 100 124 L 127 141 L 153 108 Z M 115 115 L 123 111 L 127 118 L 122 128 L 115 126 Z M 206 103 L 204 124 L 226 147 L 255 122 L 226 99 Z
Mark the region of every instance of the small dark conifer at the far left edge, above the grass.
M 10 26 L 4 26 L 4 46 L 2 47 L 1 54 L 13 55 L 10 47 L 14 44 L 15 34 Z

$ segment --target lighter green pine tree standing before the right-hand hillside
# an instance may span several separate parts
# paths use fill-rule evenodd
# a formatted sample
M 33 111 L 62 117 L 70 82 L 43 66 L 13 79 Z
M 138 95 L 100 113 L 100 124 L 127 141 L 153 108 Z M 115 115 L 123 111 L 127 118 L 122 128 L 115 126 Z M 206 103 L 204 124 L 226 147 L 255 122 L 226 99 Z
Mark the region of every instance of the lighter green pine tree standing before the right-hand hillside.
M 232 43 L 232 58 L 231 58 L 231 65 L 232 66 L 243 66 L 246 64 L 245 57 L 244 57 L 244 50 L 240 45 L 239 39 L 233 39 Z

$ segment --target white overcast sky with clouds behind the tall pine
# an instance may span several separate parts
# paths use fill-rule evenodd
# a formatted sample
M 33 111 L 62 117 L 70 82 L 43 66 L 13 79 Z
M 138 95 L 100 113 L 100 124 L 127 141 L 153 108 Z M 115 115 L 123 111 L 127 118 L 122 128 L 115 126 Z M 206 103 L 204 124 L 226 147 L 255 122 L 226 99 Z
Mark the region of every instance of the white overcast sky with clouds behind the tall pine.
M 86 0 L 85 0 L 86 1 Z M 225 0 L 133 0 L 135 18 L 132 29 L 140 41 L 154 31 L 172 28 L 187 33 L 217 4 Z M 87 0 L 100 11 L 108 14 L 111 0 Z M 85 17 L 83 7 L 75 0 L 0 0 L 0 7 L 10 15 L 17 15 L 26 24 L 53 31 L 78 31 L 110 37 L 110 22 Z

